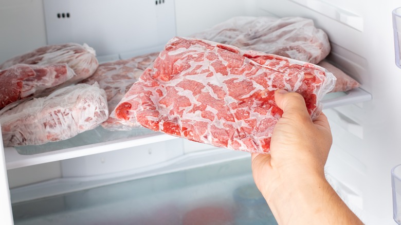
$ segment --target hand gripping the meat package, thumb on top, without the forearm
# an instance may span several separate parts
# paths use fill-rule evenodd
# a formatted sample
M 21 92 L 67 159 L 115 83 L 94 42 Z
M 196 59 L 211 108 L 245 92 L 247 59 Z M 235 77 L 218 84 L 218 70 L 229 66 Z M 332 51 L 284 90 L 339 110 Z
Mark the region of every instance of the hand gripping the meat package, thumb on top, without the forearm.
M 291 182 L 307 174 L 324 178 L 332 144 L 327 118 L 321 113 L 312 121 L 301 95 L 279 90 L 275 100 L 283 115 L 271 137 L 270 155 L 252 153 L 253 177 L 265 194 L 273 193 L 283 179 Z

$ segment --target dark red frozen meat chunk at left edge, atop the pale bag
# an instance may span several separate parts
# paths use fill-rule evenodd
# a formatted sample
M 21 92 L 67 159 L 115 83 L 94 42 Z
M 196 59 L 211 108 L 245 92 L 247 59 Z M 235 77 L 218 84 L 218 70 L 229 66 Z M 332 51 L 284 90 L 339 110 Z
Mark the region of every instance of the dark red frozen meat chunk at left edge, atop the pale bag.
M 0 71 L 0 108 L 47 88 L 64 83 L 75 76 L 67 64 L 46 66 L 17 64 Z

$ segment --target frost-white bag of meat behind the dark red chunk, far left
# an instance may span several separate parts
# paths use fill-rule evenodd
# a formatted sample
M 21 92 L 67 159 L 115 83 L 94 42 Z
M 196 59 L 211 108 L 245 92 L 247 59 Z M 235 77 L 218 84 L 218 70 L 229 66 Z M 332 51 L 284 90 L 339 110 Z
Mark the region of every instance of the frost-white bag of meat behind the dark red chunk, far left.
M 68 83 L 78 82 L 91 76 L 99 63 L 95 50 L 87 44 L 66 43 L 47 45 L 33 51 L 18 55 L 0 65 L 0 69 L 7 69 L 15 64 L 59 64 L 67 63 L 75 71 L 76 77 Z

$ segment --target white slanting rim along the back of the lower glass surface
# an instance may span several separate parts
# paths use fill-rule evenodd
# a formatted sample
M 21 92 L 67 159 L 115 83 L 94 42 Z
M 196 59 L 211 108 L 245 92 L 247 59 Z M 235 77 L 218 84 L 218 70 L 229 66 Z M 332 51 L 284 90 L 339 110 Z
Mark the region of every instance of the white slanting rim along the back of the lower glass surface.
M 13 188 L 10 191 L 11 202 L 18 203 L 65 193 L 88 190 L 97 188 L 99 186 L 169 174 L 178 171 L 185 171 L 192 168 L 199 168 L 222 162 L 230 162 L 238 159 L 250 160 L 250 154 L 247 152 L 231 151 L 223 148 L 213 148 L 208 151 L 181 155 L 165 162 L 132 168 L 131 170 L 95 176 L 62 177 Z M 248 162 L 249 163 L 247 163 L 246 166 L 250 166 L 250 161 Z M 199 180 L 200 177 L 189 177 L 188 179 Z

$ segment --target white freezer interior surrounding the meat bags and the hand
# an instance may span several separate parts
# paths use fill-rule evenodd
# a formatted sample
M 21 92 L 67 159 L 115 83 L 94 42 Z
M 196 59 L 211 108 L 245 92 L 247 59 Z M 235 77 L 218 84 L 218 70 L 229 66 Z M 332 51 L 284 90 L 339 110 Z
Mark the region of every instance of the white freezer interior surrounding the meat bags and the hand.
M 235 16 L 310 18 L 329 36 L 326 60 L 361 84 L 323 101 L 334 141 L 327 179 L 364 223 L 394 224 L 390 171 L 401 162 L 401 71 L 394 63 L 392 27 L 397 7 L 395 0 L 7 0 L 0 3 L 0 62 L 64 42 L 85 42 L 100 63 L 110 62 L 160 51 L 173 36 Z M 260 203 L 249 153 L 145 128 L 97 127 L 61 142 L 5 147 L 4 156 L 2 182 L 10 191 L 2 196 L 10 195 L 5 205 L 12 204 L 15 224 L 177 224 L 202 213 L 227 224 L 241 216 L 275 224 L 266 204 L 242 209 L 244 202 L 235 197 L 245 187 Z

